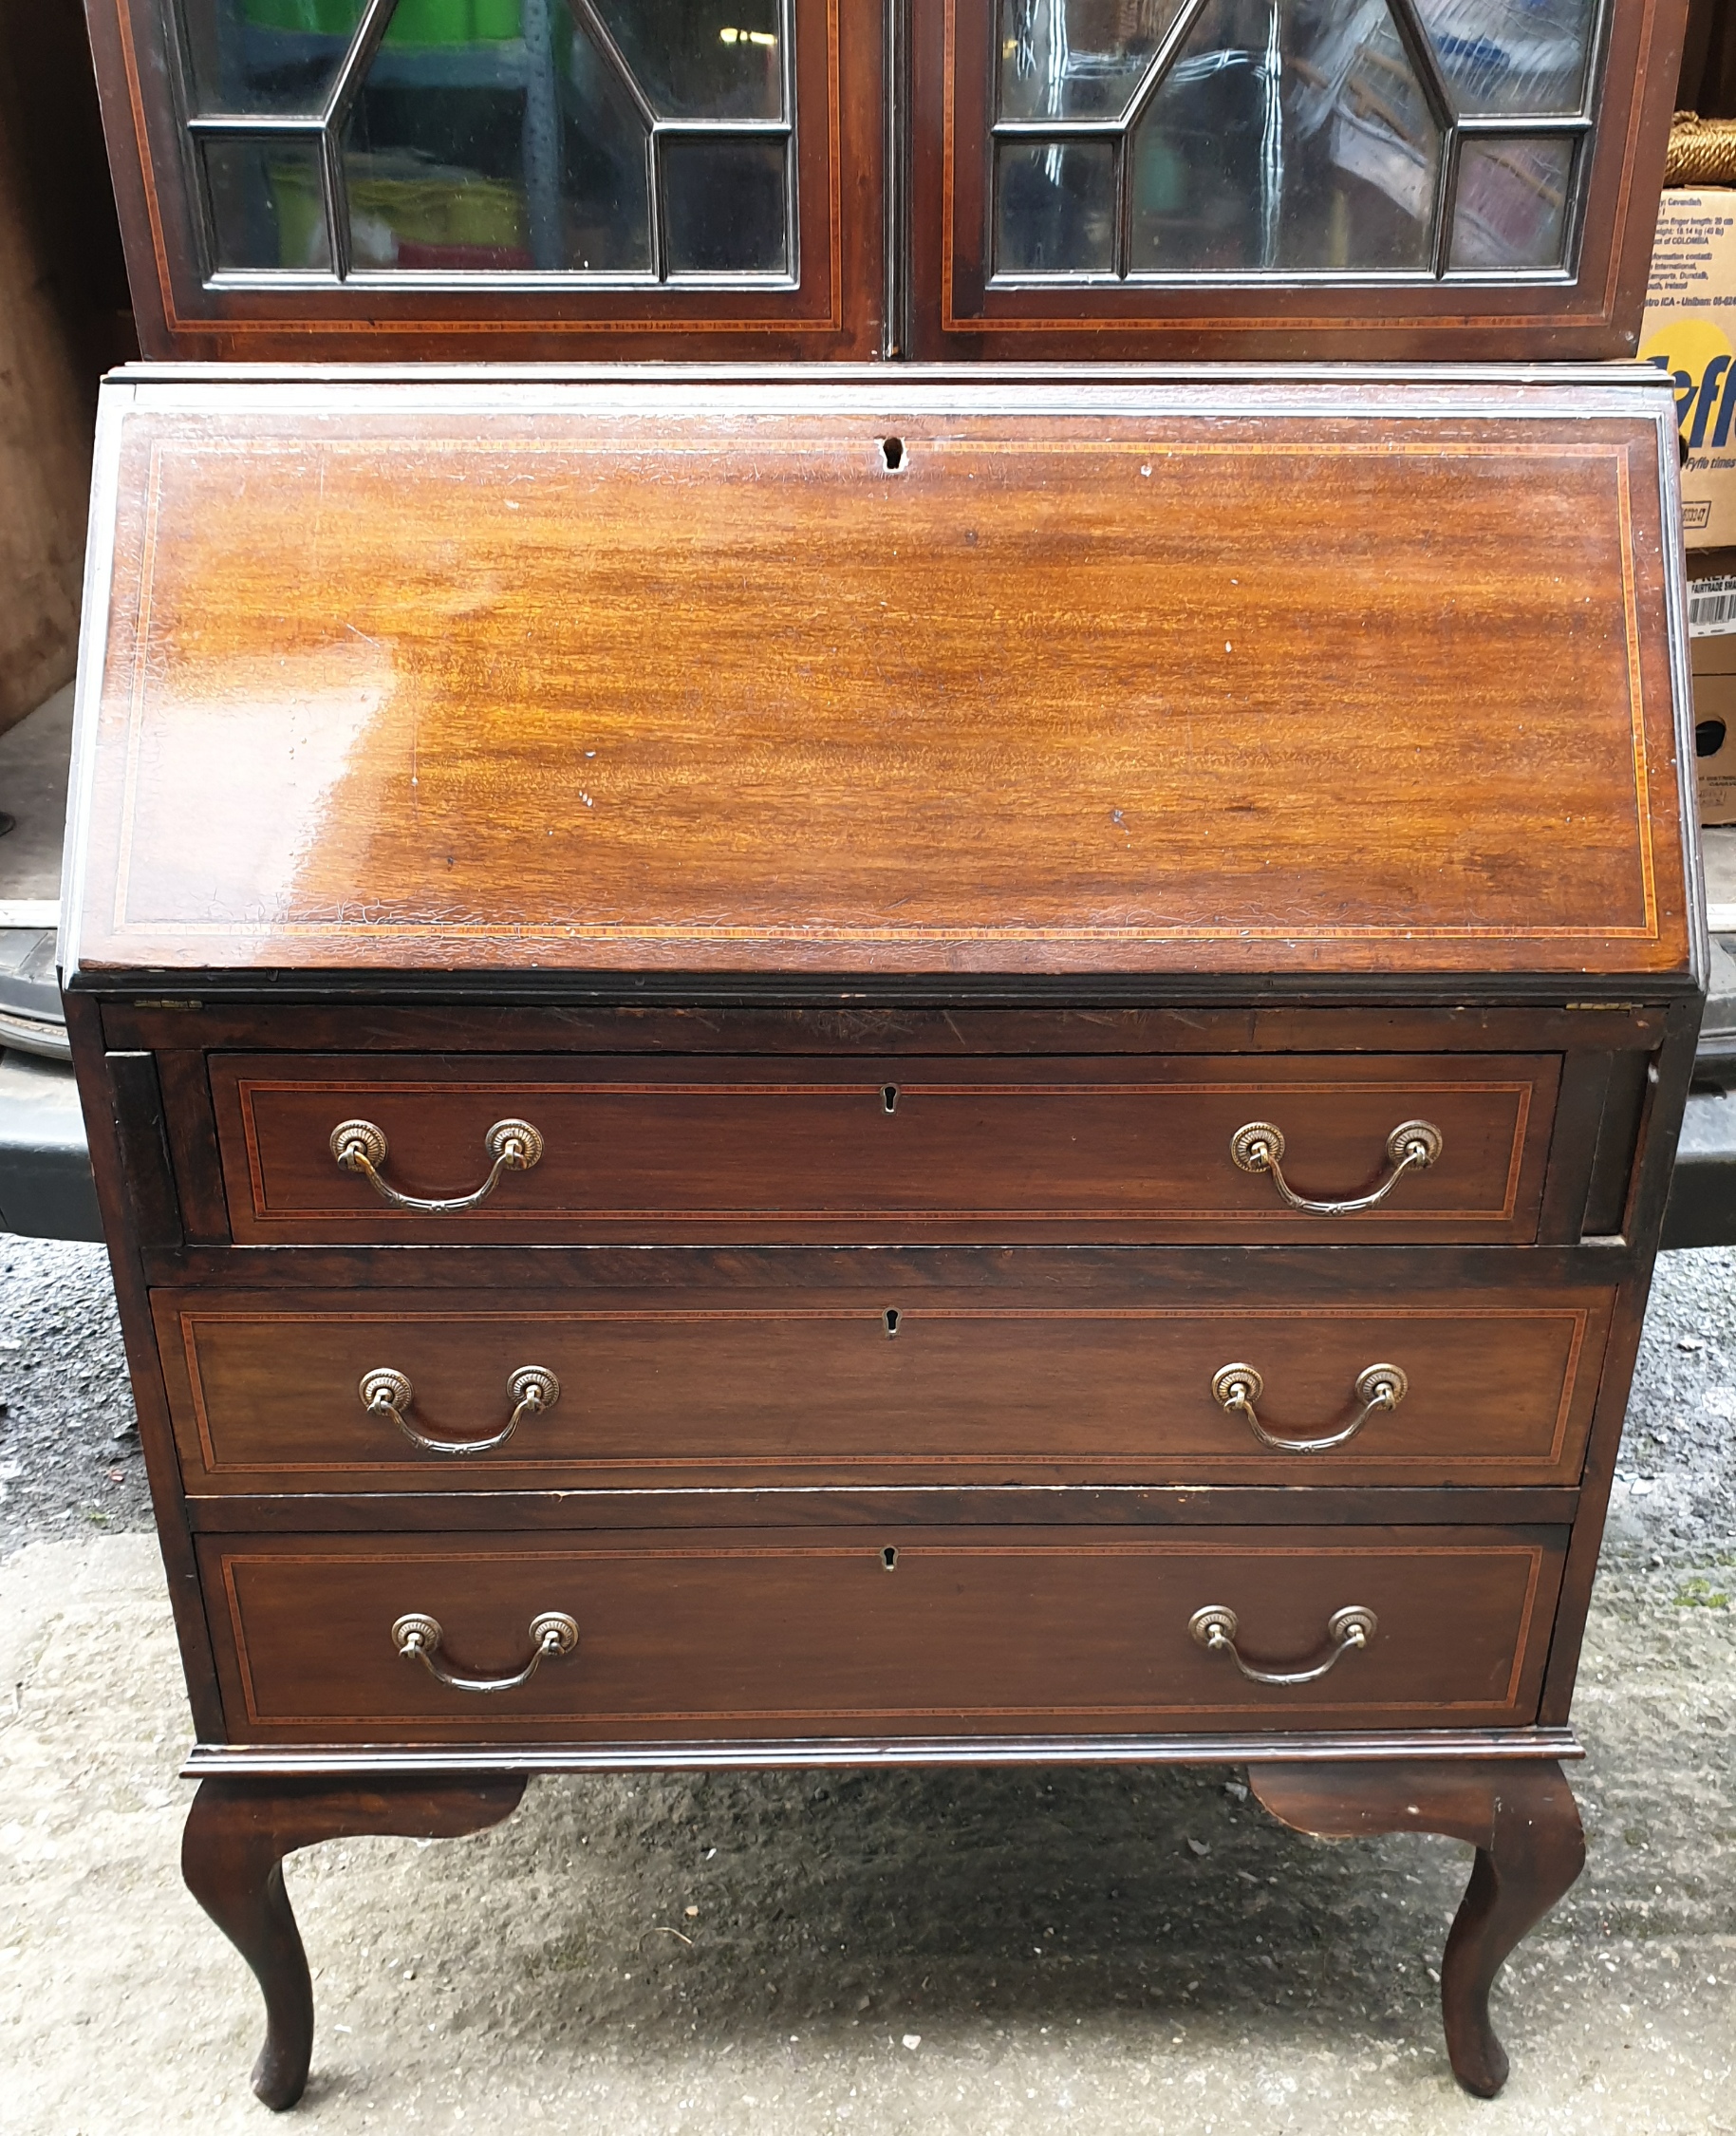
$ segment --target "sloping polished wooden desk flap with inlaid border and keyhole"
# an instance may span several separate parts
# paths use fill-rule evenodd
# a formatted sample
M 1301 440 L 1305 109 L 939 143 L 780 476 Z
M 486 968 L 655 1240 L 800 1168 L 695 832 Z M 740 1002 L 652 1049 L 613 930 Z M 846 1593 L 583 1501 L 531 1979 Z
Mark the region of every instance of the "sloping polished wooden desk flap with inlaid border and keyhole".
M 1584 372 L 122 374 L 68 951 L 1680 972 L 1672 451 Z

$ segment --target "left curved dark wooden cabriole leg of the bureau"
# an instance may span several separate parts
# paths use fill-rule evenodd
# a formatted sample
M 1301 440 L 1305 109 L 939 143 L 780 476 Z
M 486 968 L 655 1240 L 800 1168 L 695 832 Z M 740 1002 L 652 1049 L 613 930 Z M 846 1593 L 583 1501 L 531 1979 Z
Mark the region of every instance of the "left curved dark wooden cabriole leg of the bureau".
M 365 1788 L 288 1779 L 201 1781 L 182 1835 L 182 1875 L 254 1969 L 265 1995 L 265 2046 L 254 2063 L 254 2091 L 267 2106 L 295 2106 L 314 2053 L 314 1984 L 284 1890 L 284 1856 L 320 1839 L 365 1833 L 457 1839 L 500 1824 L 519 1807 L 523 1792 L 523 1775 L 433 1786 L 378 1779 Z

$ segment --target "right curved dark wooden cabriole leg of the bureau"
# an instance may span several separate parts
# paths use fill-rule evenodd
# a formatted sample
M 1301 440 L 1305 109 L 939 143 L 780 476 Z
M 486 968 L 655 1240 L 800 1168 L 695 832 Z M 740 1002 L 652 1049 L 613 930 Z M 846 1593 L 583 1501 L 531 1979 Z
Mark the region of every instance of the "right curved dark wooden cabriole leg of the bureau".
M 1249 1784 L 1283 1824 L 1320 1839 L 1446 1833 L 1478 1850 L 1441 1959 L 1452 2074 L 1478 2098 L 1508 2080 L 1488 1989 L 1508 1954 L 1584 1867 L 1580 1811 L 1552 1760 L 1256 1764 Z

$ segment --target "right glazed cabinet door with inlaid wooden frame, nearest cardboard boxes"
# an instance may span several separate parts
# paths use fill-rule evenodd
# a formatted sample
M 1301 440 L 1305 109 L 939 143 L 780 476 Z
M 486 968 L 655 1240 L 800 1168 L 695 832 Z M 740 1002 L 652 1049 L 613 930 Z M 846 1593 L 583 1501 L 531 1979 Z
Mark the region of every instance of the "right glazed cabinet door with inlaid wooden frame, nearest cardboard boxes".
M 1678 0 L 912 9 L 925 357 L 1614 357 Z

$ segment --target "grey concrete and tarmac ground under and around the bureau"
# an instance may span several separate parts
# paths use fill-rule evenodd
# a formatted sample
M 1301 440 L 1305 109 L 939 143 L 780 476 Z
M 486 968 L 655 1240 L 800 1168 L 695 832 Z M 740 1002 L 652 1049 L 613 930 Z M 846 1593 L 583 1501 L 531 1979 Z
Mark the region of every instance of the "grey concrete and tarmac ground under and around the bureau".
M 0 2130 L 258 2132 L 254 1991 L 175 1875 L 100 1250 L 0 1241 Z M 1736 2136 L 1734 1433 L 1736 1256 L 1670 1256 L 1576 1713 L 1591 1863 L 1497 1991 L 1493 2104 L 1431 1976 L 1465 1848 L 1300 1839 L 1221 1771 L 730 1775 L 293 1860 L 297 2125 Z

